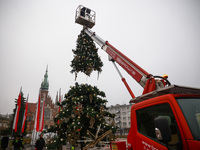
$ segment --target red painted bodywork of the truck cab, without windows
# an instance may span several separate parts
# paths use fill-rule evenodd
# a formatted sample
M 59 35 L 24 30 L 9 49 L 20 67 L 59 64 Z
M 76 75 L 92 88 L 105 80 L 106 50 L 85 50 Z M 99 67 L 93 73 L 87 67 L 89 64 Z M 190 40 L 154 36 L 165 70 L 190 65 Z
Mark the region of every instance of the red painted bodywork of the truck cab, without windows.
M 167 147 L 138 131 L 136 111 L 149 106 L 168 103 L 173 111 L 174 117 L 181 136 L 182 150 L 200 149 L 200 141 L 194 141 L 190 128 L 175 99 L 175 97 L 191 97 L 186 94 L 166 94 L 136 103 L 131 108 L 131 128 L 127 137 L 128 147 L 132 150 L 167 150 Z M 196 96 L 194 96 L 196 97 Z M 200 95 L 198 95 L 200 97 Z

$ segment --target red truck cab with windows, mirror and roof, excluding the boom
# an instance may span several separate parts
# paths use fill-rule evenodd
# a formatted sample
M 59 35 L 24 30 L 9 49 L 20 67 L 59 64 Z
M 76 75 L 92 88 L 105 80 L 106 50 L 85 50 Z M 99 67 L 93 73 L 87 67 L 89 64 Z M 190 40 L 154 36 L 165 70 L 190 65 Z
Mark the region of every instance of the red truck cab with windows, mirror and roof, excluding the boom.
M 200 149 L 199 89 L 172 85 L 130 102 L 128 149 Z

